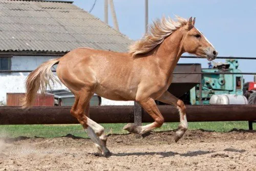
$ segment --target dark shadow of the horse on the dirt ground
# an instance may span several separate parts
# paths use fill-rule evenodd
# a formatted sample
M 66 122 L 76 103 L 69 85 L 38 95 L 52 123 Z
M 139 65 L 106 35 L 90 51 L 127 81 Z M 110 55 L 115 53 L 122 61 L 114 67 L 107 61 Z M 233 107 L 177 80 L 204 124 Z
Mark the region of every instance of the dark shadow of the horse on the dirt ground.
M 184 157 L 192 157 L 192 156 L 199 156 L 199 155 L 205 155 L 209 153 L 214 153 L 214 151 L 194 151 L 194 152 L 187 152 L 187 153 L 177 153 L 177 152 L 136 152 L 136 153 L 112 153 L 112 156 L 147 156 L 147 155 L 160 155 L 160 158 L 164 157 L 171 157 L 175 155 L 180 155 Z

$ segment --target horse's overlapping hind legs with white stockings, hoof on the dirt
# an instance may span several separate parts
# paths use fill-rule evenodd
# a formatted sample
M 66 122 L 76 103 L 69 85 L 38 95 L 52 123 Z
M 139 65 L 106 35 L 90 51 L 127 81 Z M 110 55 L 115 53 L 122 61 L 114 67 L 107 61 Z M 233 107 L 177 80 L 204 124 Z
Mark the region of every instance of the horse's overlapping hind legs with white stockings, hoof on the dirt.
M 106 140 L 108 137 L 104 134 L 104 128 L 87 117 L 87 115 L 89 116 L 89 102 L 92 95 L 93 93 L 88 91 L 76 95 L 75 103 L 70 112 L 77 118 L 83 128 L 87 130 L 92 141 L 97 144 L 96 147 L 98 151 L 103 153 L 105 157 L 108 157 L 110 156 L 110 151 L 106 148 Z

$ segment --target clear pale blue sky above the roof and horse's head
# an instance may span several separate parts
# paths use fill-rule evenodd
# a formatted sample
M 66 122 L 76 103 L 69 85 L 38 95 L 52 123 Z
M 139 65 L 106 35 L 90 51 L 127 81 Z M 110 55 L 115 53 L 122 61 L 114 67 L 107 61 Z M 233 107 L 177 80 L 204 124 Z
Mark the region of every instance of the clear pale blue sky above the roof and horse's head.
M 73 0 L 78 7 L 89 11 L 94 0 Z M 91 14 L 104 20 L 103 0 L 97 0 Z M 144 0 L 114 0 L 119 30 L 137 40 L 145 31 Z M 148 0 L 148 23 L 163 15 L 196 17 L 196 27 L 215 46 L 219 56 L 254 57 L 256 40 L 256 1 L 238 0 Z M 113 26 L 109 7 L 109 25 Z M 216 59 L 215 61 L 224 61 Z M 206 59 L 180 59 L 181 63 L 202 63 Z M 256 72 L 256 60 L 239 60 L 242 72 Z M 244 76 L 252 81 L 252 76 Z

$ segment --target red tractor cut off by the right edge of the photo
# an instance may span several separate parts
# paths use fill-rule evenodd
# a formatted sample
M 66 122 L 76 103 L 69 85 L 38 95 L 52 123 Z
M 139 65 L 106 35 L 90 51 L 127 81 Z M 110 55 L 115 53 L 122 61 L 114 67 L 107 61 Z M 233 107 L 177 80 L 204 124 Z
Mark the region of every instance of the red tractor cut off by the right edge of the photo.
M 244 96 L 248 99 L 248 104 L 256 104 L 256 82 L 244 84 Z

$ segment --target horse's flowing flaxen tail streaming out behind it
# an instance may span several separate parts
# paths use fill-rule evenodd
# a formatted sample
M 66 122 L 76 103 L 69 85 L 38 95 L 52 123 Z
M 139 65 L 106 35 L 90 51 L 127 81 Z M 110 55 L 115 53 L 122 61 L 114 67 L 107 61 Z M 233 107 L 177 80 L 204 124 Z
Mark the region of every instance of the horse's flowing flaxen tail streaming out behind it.
M 37 69 L 31 72 L 26 80 L 27 93 L 22 102 L 22 108 L 29 108 L 34 104 L 37 91 L 40 89 L 41 93 L 45 95 L 47 86 L 50 86 L 50 80 L 58 81 L 52 73 L 52 66 L 59 62 L 59 58 L 48 60 L 42 63 Z

